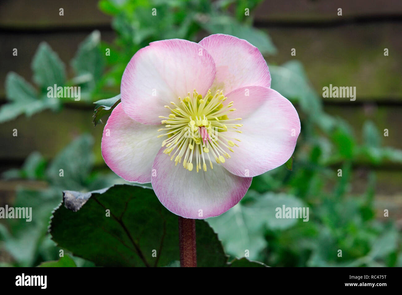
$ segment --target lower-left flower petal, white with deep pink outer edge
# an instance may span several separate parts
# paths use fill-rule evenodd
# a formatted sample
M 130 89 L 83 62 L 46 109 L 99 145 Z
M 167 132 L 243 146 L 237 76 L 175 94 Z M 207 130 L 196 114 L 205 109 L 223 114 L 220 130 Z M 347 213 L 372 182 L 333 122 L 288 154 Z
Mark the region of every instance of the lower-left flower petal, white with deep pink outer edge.
M 162 144 L 158 126 L 135 122 L 123 111 L 113 109 L 102 136 L 102 156 L 117 175 L 130 182 L 151 181 L 152 163 Z

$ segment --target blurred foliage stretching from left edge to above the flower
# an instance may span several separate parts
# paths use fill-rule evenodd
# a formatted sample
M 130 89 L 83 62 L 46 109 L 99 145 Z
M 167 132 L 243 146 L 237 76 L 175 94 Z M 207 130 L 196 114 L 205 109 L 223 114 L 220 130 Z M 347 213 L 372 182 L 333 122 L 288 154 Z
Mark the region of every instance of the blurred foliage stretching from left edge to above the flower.
M 205 30 L 209 34 L 226 33 L 248 39 L 263 54 L 275 54 L 276 48 L 269 35 L 251 26 L 242 17 L 245 7 L 255 8 L 260 2 L 248 1 L 161 1 L 161 0 L 101 0 L 99 8 L 113 15 L 112 27 L 117 39 L 112 44 L 101 43 L 100 32 L 92 32 L 79 45 L 71 60 L 74 76 L 68 80 L 66 65 L 51 47 L 42 42 L 32 61 L 33 81 L 38 89 L 14 72 L 8 73 L 5 82 L 8 103 L 0 108 L 0 123 L 21 114 L 31 116 L 45 109 L 57 111 L 74 98 L 48 97 L 47 87 L 81 87 L 80 102 L 88 103 L 106 99 L 119 93 L 125 66 L 131 57 L 152 41 L 181 38 L 197 41 L 197 35 Z M 236 18 L 229 13 L 236 10 Z M 155 9 L 155 14 L 153 13 Z M 246 21 L 247 20 L 247 21 Z M 96 125 L 99 116 L 94 118 Z

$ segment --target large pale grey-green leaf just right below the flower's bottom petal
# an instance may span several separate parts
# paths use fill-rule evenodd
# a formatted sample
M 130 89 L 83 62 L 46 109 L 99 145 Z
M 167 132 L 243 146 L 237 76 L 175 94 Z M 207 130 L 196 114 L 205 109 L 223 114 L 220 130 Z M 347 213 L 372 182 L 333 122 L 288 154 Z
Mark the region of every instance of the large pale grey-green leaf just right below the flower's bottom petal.
M 252 199 L 252 202 L 240 202 L 224 214 L 207 221 L 222 239 L 228 254 L 242 257 L 248 250 L 250 259 L 258 259 L 261 250 L 267 247 L 264 238 L 266 228 L 287 229 L 297 222 L 296 219 L 277 219 L 275 209 L 283 205 L 303 207 L 303 204 L 286 194 L 267 193 Z

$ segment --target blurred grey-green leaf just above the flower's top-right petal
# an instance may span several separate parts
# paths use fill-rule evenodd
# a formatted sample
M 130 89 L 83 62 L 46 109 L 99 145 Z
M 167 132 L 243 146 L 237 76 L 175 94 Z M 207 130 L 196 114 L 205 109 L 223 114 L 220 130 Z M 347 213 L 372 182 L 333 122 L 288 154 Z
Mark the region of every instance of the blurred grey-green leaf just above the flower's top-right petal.
M 276 54 L 277 52 L 275 45 L 267 33 L 238 23 L 232 17 L 211 16 L 206 22 L 200 21 L 199 25 L 212 34 L 222 33 L 245 39 L 256 46 L 262 54 Z

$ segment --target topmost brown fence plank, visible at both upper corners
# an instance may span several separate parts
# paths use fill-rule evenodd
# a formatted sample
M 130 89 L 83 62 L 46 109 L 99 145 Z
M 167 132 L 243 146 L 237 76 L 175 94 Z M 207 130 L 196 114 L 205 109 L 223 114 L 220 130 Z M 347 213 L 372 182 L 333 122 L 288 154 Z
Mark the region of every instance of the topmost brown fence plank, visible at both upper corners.
M 59 15 L 64 8 L 64 16 Z M 337 15 L 342 8 L 343 16 Z M 400 0 L 288 0 L 263 1 L 254 11 L 257 23 L 326 23 L 361 17 L 381 18 L 402 14 Z M 3 0 L 0 3 L 0 28 L 46 29 L 83 26 L 109 26 L 111 17 L 98 9 L 98 0 Z

